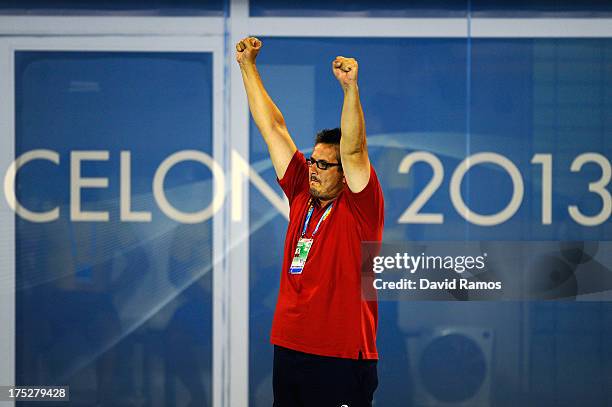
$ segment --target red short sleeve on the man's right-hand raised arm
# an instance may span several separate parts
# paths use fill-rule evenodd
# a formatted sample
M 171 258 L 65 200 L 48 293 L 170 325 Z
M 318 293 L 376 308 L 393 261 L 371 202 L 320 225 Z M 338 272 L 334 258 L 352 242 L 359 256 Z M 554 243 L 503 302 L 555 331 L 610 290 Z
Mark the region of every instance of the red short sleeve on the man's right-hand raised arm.
M 380 240 L 384 225 L 385 202 L 374 166 L 370 165 L 370 179 L 360 192 L 345 189 L 347 201 L 365 240 Z

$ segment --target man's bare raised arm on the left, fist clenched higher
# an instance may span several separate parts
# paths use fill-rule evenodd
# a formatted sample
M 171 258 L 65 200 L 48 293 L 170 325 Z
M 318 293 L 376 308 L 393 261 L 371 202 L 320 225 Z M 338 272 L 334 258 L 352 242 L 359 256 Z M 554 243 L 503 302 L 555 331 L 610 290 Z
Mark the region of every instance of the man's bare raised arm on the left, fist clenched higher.
M 282 113 L 266 92 L 257 72 L 255 58 L 261 46 L 261 41 L 254 37 L 241 40 L 236 44 L 236 61 L 240 66 L 253 120 L 268 145 L 276 176 L 282 179 L 297 147 L 289 135 Z

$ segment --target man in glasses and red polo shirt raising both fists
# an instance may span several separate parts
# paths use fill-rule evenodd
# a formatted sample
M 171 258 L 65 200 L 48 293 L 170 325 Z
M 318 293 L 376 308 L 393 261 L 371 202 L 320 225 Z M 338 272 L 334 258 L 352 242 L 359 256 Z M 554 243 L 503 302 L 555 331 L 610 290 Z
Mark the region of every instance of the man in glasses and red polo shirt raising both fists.
M 366 145 L 357 61 L 336 57 L 341 130 L 300 153 L 257 72 L 262 43 L 236 44 L 249 108 L 268 146 L 290 215 L 271 342 L 275 407 L 371 406 L 377 305 L 361 295 L 361 242 L 382 239 L 384 203 Z

